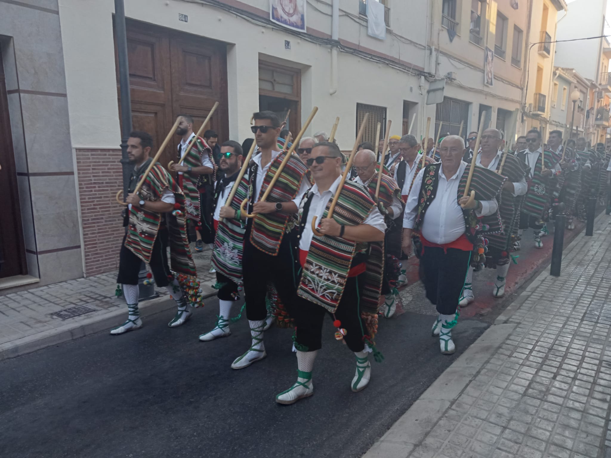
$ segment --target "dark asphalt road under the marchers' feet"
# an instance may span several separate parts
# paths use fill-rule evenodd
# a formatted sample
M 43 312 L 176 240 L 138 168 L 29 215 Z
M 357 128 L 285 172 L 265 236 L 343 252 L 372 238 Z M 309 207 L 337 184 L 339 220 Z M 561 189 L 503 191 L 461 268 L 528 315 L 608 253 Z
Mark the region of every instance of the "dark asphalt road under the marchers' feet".
M 411 288 L 422 302 L 421 286 Z M 359 457 L 473 343 L 488 324 L 463 319 L 457 352 L 430 336 L 434 311 L 381 319 L 369 387 L 353 393 L 354 356 L 326 322 L 315 394 L 295 405 L 274 396 L 296 377 L 291 330 L 266 333 L 268 357 L 230 368 L 249 346 L 247 321 L 209 343 L 216 300 L 170 329 L 170 313 L 141 330 L 106 333 L 0 362 L 0 457 Z

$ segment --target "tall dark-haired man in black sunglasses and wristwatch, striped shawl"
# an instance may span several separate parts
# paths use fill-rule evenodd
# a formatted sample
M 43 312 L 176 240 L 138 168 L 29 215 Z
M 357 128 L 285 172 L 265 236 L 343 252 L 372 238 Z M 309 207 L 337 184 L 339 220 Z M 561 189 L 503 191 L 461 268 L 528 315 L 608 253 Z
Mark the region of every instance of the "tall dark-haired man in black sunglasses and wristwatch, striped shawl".
M 233 361 L 233 369 L 246 368 L 267 355 L 263 332 L 273 321 L 265 301 L 268 283 L 273 283 L 284 304 L 288 305 L 295 294 L 297 285 L 291 268 L 293 264 L 289 261 L 287 266 L 292 255 L 288 233 L 295 225 L 296 202 L 309 189 L 309 183 L 304 179 L 307 170 L 304 163 L 296 154 L 291 154 L 268 198 L 260 202 L 287 153 L 277 150 L 280 134 L 277 115 L 262 111 L 255 113 L 253 118 L 255 125 L 251 130 L 258 150 L 248 168 L 247 208 L 254 217 L 247 219 L 242 258 L 244 295 L 248 297 L 246 316 L 252 344 Z

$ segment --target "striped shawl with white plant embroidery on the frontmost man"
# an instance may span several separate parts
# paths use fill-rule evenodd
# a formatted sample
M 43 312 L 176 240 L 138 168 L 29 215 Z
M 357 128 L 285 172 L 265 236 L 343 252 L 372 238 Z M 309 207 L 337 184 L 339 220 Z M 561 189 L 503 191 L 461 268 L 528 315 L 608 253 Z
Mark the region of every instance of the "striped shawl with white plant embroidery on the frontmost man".
M 304 201 L 307 198 L 310 198 L 309 194 L 305 195 Z M 329 206 L 331 200 L 321 219 L 327 217 Z M 346 181 L 337 200 L 333 219 L 339 224 L 356 226 L 363 224 L 373 208 L 375 202 L 367 189 L 353 181 Z M 299 211 L 301 217 L 303 205 Z M 368 252 L 365 285 L 360 298 L 361 311 L 377 313 L 383 271 L 384 244 L 381 242 L 356 243 L 340 237 L 318 237 L 313 234 L 297 294 L 334 313 L 342 299 L 354 255 L 360 252 Z

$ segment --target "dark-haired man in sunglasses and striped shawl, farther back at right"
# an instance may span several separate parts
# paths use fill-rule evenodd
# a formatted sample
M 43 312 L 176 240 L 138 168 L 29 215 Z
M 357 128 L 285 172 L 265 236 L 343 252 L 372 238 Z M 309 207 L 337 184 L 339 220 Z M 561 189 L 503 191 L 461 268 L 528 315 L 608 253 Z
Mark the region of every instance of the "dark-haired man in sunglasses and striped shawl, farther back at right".
M 528 148 L 518 153 L 518 159 L 529 167 L 527 176 L 528 190 L 520 214 L 519 233 L 532 228 L 535 248 L 543 248 L 541 230 L 549 217 L 549 208 L 557 187 L 557 176 L 560 175 L 560 158 L 550 150 L 541 147 L 541 132 L 530 129 L 526 134 Z M 545 170 L 541 172 L 541 154 L 544 154 Z M 518 245 L 519 248 L 519 245 Z

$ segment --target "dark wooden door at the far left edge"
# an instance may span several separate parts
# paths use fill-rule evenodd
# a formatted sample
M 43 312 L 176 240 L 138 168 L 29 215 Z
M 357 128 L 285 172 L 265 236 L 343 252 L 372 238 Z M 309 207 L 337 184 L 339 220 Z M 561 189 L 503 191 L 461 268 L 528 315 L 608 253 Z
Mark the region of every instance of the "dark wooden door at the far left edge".
M 0 278 L 27 274 L 15 154 L 0 51 Z

